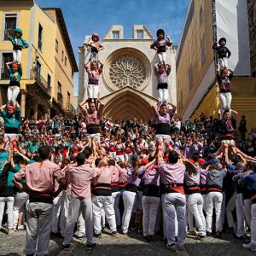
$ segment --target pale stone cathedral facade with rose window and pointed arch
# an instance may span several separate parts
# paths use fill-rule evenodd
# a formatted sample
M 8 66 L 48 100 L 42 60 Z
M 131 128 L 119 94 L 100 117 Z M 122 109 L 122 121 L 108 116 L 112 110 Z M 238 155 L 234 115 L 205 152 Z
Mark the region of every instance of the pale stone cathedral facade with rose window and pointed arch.
M 85 36 L 84 45 L 79 47 L 79 102 L 87 97 L 88 75 L 84 63 L 90 57 L 90 47 L 85 45 L 90 36 Z M 100 77 L 99 98 L 104 102 L 103 115 L 108 118 L 137 118 L 148 120 L 151 106 L 157 102 L 157 80 L 154 65 L 158 57 L 150 44 L 155 38 L 148 28 L 135 25 L 132 38 L 124 38 L 123 26 L 111 26 L 102 38 L 104 49 L 99 52 L 103 64 Z M 168 77 L 169 101 L 177 104 L 175 56 L 177 47 L 166 50 L 166 63 L 172 71 Z

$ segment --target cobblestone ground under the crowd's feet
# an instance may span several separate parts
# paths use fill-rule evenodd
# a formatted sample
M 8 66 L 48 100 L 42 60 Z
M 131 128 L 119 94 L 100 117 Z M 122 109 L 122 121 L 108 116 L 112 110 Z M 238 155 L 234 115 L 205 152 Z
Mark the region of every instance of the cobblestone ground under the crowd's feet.
M 16 231 L 14 235 L 7 236 L 0 232 L 0 255 L 24 255 L 23 248 L 26 240 L 26 231 Z M 215 256 L 215 255 L 236 255 L 253 256 L 255 253 L 246 251 L 241 247 L 241 241 L 235 240 L 231 234 L 223 234 L 222 239 L 207 237 L 203 241 L 187 239 L 186 250 L 183 252 L 172 253 L 164 247 L 164 242 L 160 236 L 148 243 L 142 235 L 116 237 L 103 234 L 102 238 L 96 238 L 97 246 L 92 251 L 85 249 L 85 239 L 73 240 L 69 251 L 61 251 L 61 238 L 55 238 L 49 242 L 49 255 L 136 255 L 136 256 L 162 256 L 162 255 L 196 255 L 196 256 Z

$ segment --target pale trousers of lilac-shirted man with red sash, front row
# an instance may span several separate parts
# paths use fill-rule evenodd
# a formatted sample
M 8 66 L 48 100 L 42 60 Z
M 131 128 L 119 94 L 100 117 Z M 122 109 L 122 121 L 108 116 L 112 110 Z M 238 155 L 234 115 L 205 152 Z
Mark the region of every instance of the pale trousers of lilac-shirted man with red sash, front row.
M 163 200 L 167 244 L 175 243 L 175 218 L 177 216 L 177 244 L 183 246 L 186 238 L 186 197 L 180 193 L 168 193 L 164 194 Z

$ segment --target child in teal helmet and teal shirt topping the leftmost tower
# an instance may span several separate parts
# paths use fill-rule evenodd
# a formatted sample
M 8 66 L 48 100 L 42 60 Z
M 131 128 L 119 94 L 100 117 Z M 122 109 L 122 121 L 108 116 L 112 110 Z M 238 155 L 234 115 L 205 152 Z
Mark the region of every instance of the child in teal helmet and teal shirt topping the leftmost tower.
M 9 32 L 8 32 L 9 33 Z M 24 48 L 28 48 L 28 44 L 26 41 L 21 38 L 22 30 L 20 28 L 15 28 L 15 37 L 11 37 L 8 35 L 9 41 L 13 44 L 13 62 L 20 64 L 21 61 L 21 50 Z

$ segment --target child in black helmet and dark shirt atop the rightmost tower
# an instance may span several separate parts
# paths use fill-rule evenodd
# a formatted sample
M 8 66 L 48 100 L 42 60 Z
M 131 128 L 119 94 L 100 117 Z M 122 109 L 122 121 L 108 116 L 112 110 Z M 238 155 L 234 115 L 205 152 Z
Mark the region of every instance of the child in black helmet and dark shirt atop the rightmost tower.
M 226 43 L 226 38 L 220 38 L 218 40 L 218 44 L 215 42 L 212 45 L 212 49 L 214 49 L 218 54 L 218 66 L 220 69 L 228 68 L 228 59 L 230 58 L 231 52 L 230 49 L 226 47 Z

